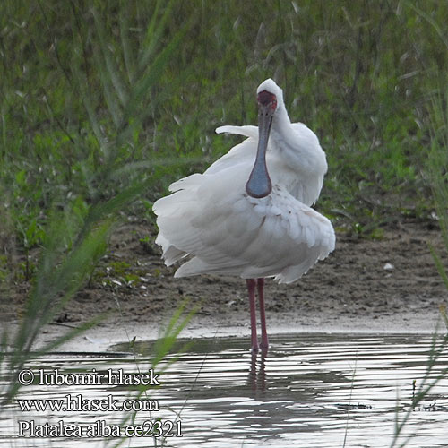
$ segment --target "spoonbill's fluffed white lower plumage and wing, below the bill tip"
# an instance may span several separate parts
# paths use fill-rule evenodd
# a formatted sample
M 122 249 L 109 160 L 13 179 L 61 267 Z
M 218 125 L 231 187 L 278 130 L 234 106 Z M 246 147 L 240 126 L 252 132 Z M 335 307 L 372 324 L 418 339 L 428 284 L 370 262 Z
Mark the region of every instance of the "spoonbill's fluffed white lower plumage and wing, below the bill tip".
M 236 168 L 196 180 L 201 185 L 154 204 L 164 255 L 194 255 L 177 277 L 215 272 L 291 282 L 332 252 L 330 221 L 288 192 L 274 187 L 254 199 L 244 190 L 246 171 Z

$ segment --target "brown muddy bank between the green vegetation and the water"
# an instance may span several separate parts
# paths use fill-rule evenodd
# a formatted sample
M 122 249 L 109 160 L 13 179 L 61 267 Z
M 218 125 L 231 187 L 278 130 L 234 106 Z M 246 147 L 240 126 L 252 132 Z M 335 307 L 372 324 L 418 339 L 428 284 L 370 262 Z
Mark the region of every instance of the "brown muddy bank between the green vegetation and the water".
M 199 276 L 173 279 L 173 268 L 148 244 L 148 227 L 119 228 L 111 249 L 90 284 L 82 289 L 42 337 L 47 340 L 108 311 L 85 339 L 91 349 L 108 342 L 154 338 L 177 306 L 197 314 L 183 335 L 249 334 L 246 284 L 238 278 Z M 429 245 L 443 253 L 440 232 L 430 222 L 384 228 L 381 239 L 339 233 L 336 250 L 292 285 L 266 281 L 266 311 L 273 332 L 431 332 L 447 291 L 435 269 Z M 444 258 L 446 261 L 446 258 Z M 4 302 L 4 320 L 21 305 Z M 127 332 L 127 334 L 126 334 Z M 87 347 L 86 347 L 87 348 Z

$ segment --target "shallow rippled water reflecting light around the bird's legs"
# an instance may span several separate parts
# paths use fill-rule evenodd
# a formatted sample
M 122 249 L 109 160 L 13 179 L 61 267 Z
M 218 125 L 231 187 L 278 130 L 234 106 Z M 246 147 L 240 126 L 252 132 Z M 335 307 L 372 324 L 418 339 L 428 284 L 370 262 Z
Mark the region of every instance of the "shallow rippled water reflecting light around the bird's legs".
M 138 412 L 135 421 L 128 422 L 148 429 L 145 421 L 162 418 L 164 430 L 173 436 L 160 437 L 157 444 L 152 437 L 134 436 L 124 446 L 334 447 L 344 446 L 344 441 L 347 447 L 390 446 L 396 409 L 401 421 L 413 393 L 424 384 L 431 343 L 431 337 L 418 335 L 292 334 L 273 337 L 270 352 L 263 358 L 251 356 L 246 339 L 194 341 L 175 362 L 169 364 L 168 358 L 154 369 L 159 374 L 155 382 L 161 385 L 150 386 L 147 398 L 157 400 L 159 411 Z M 56 354 L 27 367 L 36 377 L 40 368 L 59 368 L 66 375 L 91 374 L 92 368 L 97 373 L 108 369 L 130 373 L 137 372 L 138 366 L 141 373 L 148 373 L 151 357 L 146 353 L 151 352 L 151 344 L 135 344 L 135 355 L 125 355 L 128 347 L 116 346 L 103 356 Z M 427 383 L 447 367 L 445 351 Z M 135 399 L 137 392 L 104 383 L 45 386 L 35 382 L 23 386 L 18 398 L 63 399 L 68 393 L 81 394 L 86 401 L 113 395 L 121 402 Z M 65 425 L 85 429 L 97 421 L 116 426 L 123 415 L 92 410 L 22 412 L 12 405 L 0 414 L 0 447 L 80 446 L 79 439 L 16 437 L 20 420 L 40 425 L 63 420 Z M 177 436 L 179 431 L 182 437 Z M 410 412 L 397 446 L 409 436 L 409 447 L 448 446 L 446 375 Z M 110 446 L 116 441 L 109 440 Z M 86 447 L 104 444 L 104 437 L 82 440 Z

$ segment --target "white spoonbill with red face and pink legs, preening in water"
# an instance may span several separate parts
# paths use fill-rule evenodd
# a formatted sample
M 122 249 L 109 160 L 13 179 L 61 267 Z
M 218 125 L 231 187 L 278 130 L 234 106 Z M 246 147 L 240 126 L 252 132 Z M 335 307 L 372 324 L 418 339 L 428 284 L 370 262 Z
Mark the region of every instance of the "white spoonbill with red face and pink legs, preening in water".
M 257 89 L 258 127 L 221 126 L 216 132 L 248 138 L 214 162 L 169 186 L 154 203 L 167 265 L 190 255 L 175 277 L 203 273 L 237 275 L 249 292 L 252 350 L 256 335 L 255 289 L 262 340 L 265 277 L 299 279 L 335 244 L 330 220 L 310 206 L 319 197 L 327 162 L 316 135 L 291 123 L 280 87 L 268 79 Z

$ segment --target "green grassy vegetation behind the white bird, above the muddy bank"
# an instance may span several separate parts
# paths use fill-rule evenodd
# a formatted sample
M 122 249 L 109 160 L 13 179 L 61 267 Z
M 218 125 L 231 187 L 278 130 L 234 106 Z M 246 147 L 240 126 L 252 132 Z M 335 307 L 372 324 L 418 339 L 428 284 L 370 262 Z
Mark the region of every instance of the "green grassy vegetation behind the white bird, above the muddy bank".
M 151 224 L 171 181 L 238 141 L 215 127 L 254 124 L 267 77 L 321 140 L 317 207 L 337 228 L 381 237 L 403 217 L 428 219 L 446 17 L 437 0 L 4 1 L 1 280 L 30 280 L 42 247 L 60 264 L 56 253 L 116 217 Z

